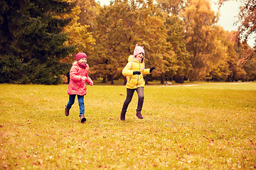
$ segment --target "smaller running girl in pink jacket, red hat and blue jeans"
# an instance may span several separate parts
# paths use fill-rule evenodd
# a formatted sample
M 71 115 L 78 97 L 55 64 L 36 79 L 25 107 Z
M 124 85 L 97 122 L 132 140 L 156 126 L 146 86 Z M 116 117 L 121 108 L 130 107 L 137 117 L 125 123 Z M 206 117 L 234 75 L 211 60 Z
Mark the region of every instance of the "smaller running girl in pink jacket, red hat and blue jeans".
M 65 106 L 65 115 L 69 115 L 70 108 L 75 103 L 75 96 L 78 96 L 78 104 L 80 108 L 80 121 L 85 123 L 85 103 L 84 96 L 86 94 L 86 84 L 93 85 L 92 79 L 88 77 L 89 66 L 87 64 L 87 55 L 83 52 L 79 52 L 75 55 L 76 62 L 70 69 L 70 83 L 68 85 L 69 101 Z

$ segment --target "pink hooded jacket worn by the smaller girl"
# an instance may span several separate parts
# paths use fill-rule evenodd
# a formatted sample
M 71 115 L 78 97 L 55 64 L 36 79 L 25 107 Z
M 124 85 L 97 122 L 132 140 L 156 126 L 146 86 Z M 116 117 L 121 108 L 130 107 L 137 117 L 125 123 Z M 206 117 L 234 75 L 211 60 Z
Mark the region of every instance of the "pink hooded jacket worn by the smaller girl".
M 86 84 L 82 81 L 82 77 L 87 77 L 86 82 L 90 84 L 90 77 L 88 77 L 88 66 L 82 68 L 78 63 L 73 64 L 70 69 L 70 83 L 68 85 L 68 95 L 77 94 L 84 96 L 86 94 Z

